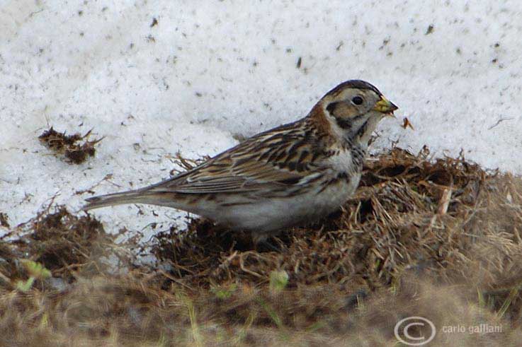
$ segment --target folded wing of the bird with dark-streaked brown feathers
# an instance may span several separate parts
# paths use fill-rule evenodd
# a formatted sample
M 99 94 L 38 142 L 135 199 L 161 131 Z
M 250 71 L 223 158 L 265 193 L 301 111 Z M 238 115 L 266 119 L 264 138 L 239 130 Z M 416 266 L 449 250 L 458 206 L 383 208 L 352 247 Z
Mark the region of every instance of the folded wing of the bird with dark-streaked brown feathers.
M 187 194 L 252 192 L 295 185 L 315 176 L 322 148 L 303 120 L 258 134 L 150 190 Z

